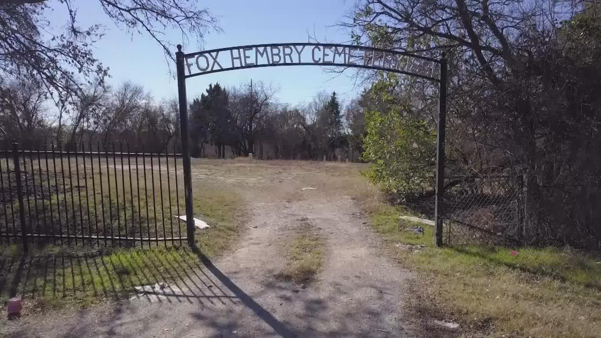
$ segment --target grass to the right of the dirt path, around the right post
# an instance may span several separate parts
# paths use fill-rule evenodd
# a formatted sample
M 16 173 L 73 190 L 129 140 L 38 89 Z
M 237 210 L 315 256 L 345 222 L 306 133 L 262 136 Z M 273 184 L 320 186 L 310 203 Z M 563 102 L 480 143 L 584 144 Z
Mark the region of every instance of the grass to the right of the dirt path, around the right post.
M 436 248 L 432 227 L 419 224 L 425 235 L 415 235 L 407 229 L 417 224 L 400 220 L 403 214 L 400 208 L 383 207 L 371 214 L 371 226 L 403 265 L 419 272 L 421 305 L 461 322 L 465 334 L 475 330 L 490 337 L 599 337 L 600 259 L 551 247 Z M 429 248 L 400 250 L 394 245 L 398 242 Z

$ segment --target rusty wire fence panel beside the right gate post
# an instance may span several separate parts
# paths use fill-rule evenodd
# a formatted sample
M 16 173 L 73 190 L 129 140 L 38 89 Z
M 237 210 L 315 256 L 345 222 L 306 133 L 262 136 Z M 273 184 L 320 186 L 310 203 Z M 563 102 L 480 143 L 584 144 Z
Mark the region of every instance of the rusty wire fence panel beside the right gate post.
M 522 174 L 447 176 L 443 231 L 447 244 L 519 244 Z

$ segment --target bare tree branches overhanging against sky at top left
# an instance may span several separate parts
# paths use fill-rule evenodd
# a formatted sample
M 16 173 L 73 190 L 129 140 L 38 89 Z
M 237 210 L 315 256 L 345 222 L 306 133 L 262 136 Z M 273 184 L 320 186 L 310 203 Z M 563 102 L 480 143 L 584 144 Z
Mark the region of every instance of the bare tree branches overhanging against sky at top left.
M 0 1 L 0 76 L 15 79 L 26 73 L 46 89 L 57 105 L 84 94 L 84 84 L 108 76 L 108 67 L 94 57 L 93 46 L 103 37 L 105 27 L 82 28 L 72 0 L 61 0 L 53 8 L 69 14 L 66 31 L 55 31 L 47 20 L 51 10 L 45 0 Z M 219 31 L 217 20 L 206 8 L 192 1 L 96 0 L 103 14 L 130 34 L 148 34 L 174 60 L 174 45 L 188 44 L 189 38 L 202 43 L 209 31 Z M 86 5 L 89 5 L 86 2 Z M 58 25 L 57 25 L 58 24 Z M 176 29 L 183 41 L 168 41 L 165 32 Z M 169 62 L 170 63 L 170 62 Z

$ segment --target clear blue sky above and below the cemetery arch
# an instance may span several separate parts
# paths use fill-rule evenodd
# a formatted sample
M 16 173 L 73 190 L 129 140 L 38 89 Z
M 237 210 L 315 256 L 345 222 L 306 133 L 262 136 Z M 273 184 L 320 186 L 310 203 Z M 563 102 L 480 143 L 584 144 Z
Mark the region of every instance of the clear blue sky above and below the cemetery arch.
M 58 2 L 58 1 L 56 1 Z M 350 34 L 338 27 L 331 27 L 342 20 L 344 14 L 354 4 L 351 0 L 207 0 L 198 1 L 219 18 L 222 33 L 211 32 L 206 36 L 204 46 L 192 45 L 185 52 L 228 46 L 251 45 L 255 43 L 307 42 L 308 32 L 315 34 L 320 41 L 344 43 Z M 76 2 L 78 20 L 82 27 L 102 23 L 108 27 L 105 37 L 96 44 L 95 56 L 105 66 L 110 67 L 109 84 L 114 86 L 130 80 L 144 85 L 155 99 L 174 97 L 177 83 L 169 76 L 168 61 L 158 43 L 148 35 L 134 34 L 116 28 L 102 13 L 96 1 Z M 52 13 L 52 23 L 66 22 L 64 5 L 54 4 L 58 10 Z M 168 40 L 181 43 L 181 35 L 168 32 Z M 172 69 L 174 69 L 172 65 Z M 188 79 L 188 99 L 204 92 L 210 83 L 219 82 L 226 87 L 241 83 L 263 81 L 279 88 L 279 102 L 295 105 L 310 101 L 319 90 L 337 91 L 341 99 L 349 100 L 358 93 L 354 88 L 352 70 L 332 79 L 319 66 L 268 67 L 262 69 L 242 69 L 197 76 Z

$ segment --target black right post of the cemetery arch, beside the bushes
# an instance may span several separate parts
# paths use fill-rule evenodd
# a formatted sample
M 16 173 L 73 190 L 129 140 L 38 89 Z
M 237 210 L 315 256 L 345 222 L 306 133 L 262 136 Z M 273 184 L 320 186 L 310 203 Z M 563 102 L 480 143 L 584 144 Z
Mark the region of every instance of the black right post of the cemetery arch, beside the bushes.
M 442 198 L 445 187 L 445 129 L 447 126 L 447 55 L 441 58 L 441 80 L 438 100 L 438 132 L 436 132 L 436 201 L 435 243 L 442 246 Z

